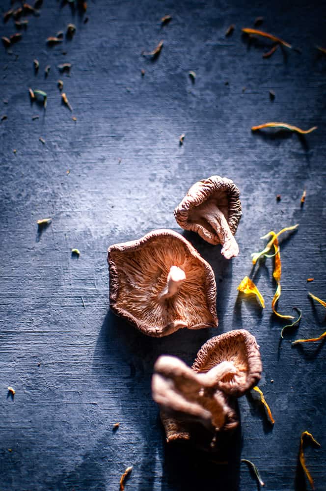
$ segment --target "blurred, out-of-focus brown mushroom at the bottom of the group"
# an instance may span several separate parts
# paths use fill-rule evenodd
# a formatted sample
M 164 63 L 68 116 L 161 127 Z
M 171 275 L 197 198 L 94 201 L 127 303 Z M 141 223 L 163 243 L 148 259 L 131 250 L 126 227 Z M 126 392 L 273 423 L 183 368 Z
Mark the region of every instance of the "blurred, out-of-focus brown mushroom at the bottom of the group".
M 190 439 L 189 423 L 200 423 L 211 432 L 237 426 L 235 412 L 216 388 L 217 380 L 233 374 L 232 363 L 221 363 L 218 369 L 198 374 L 179 358 L 160 356 L 154 372 L 153 399 L 161 407 L 168 441 Z

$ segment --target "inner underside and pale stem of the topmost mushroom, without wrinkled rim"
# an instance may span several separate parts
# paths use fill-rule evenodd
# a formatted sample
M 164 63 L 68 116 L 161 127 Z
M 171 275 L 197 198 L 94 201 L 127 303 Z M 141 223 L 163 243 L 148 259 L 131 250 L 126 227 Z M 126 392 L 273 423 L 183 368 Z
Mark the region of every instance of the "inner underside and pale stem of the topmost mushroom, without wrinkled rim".
M 219 208 L 214 200 L 208 200 L 192 210 L 191 220 L 200 222 L 207 230 L 212 242 L 223 246 L 221 254 L 226 259 L 230 259 L 239 254 L 239 246 L 227 222 L 226 210 L 222 206 Z

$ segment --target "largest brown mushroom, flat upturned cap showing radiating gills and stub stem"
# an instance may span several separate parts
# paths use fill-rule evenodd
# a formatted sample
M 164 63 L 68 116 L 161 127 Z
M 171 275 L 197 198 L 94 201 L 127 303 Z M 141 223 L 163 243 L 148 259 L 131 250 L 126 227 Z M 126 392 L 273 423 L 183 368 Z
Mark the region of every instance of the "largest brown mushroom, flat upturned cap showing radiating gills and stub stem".
M 216 327 L 211 266 L 172 230 L 108 249 L 110 308 L 149 336 Z

